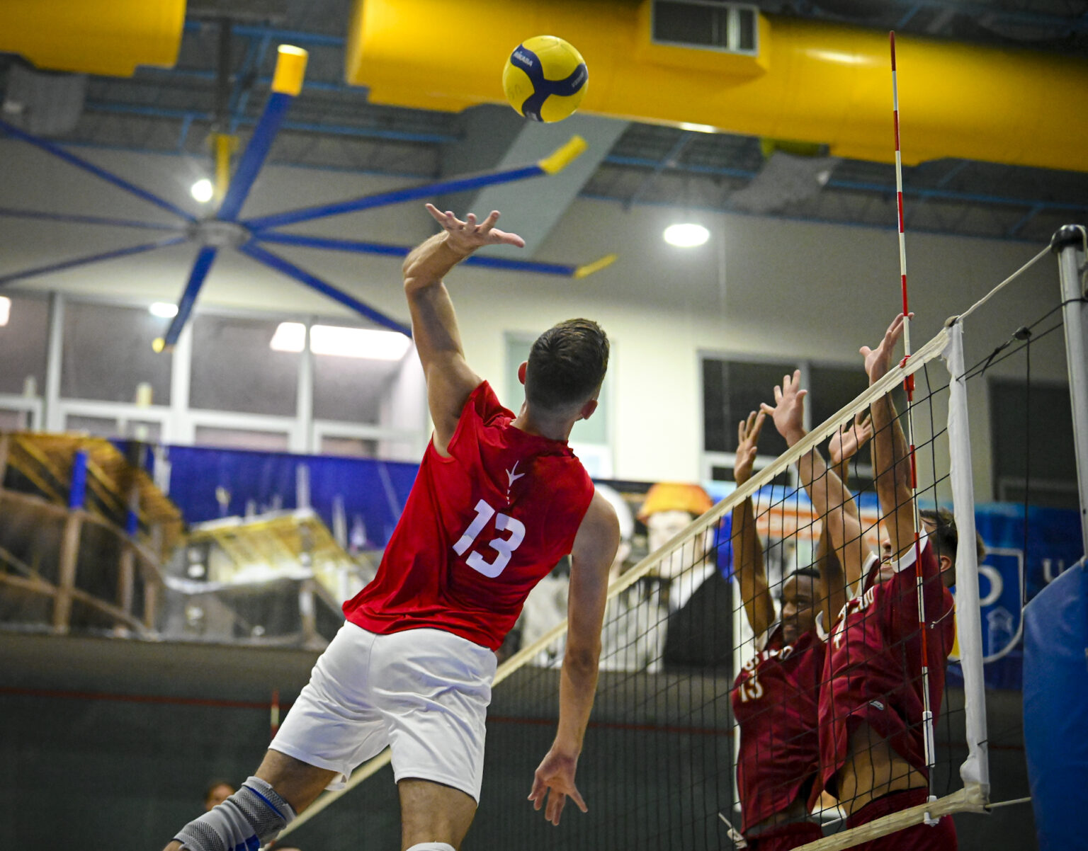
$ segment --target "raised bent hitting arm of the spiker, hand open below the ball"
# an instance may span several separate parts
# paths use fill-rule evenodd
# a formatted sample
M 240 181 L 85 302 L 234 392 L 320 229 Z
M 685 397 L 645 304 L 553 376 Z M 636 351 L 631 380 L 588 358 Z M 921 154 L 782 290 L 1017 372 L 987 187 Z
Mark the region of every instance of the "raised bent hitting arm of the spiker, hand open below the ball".
M 416 350 L 426 378 L 428 404 L 434 421 L 434 448 L 445 455 L 465 402 L 481 378 L 465 360 L 454 303 L 442 279 L 482 246 L 520 248 L 526 241 L 517 234 L 495 227 L 497 210 L 479 224 L 472 213 L 462 222 L 450 212 L 440 212 L 434 204 L 428 204 L 426 210 L 442 225 L 442 233 L 418 246 L 405 259 L 405 296 L 411 312 Z

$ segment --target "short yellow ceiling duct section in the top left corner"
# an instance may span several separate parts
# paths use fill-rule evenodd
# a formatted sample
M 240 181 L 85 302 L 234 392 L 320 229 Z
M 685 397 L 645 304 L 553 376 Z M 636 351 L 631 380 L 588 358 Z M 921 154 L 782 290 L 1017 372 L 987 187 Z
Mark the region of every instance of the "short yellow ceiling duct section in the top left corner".
M 185 0 L 2 0 L 0 51 L 39 68 L 131 77 L 177 61 Z

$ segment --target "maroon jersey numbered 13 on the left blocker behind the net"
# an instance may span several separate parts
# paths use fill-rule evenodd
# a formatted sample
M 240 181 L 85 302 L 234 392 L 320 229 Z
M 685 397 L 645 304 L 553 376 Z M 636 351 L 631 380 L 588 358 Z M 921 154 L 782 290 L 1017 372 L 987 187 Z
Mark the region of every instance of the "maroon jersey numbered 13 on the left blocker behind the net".
M 824 644 L 812 633 L 782 644 L 777 623 L 733 684 L 733 717 L 741 731 L 737 760 L 741 833 L 786 810 L 819 767 L 817 713 Z

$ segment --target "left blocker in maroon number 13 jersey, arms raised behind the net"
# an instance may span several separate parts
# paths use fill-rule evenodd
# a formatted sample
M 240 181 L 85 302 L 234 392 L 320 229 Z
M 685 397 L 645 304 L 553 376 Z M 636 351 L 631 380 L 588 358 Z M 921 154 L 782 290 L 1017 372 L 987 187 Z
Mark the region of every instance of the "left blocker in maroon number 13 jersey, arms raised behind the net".
M 752 475 L 765 417 L 763 412 L 752 412 L 739 425 L 733 467 L 738 485 Z M 832 438 L 832 466 L 841 470 L 843 478 L 849 459 L 868 437 L 866 427 L 851 423 Z M 814 496 L 814 502 L 820 498 Z M 823 837 L 820 826 L 809 819 L 807 804 L 819 769 L 817 727 L 824 669 L 824 642 L 815 625 L 818 612 L 827 621 L 839 611 L 845 588 L 828 542 L 826 510 L 821 517 L 817 566 L 796 570 L 784 579 L 781 617 L 775 621 L 751 498 L 733 510 L 735 576 L 757 650 L 738 674 L 732 691 L 740 727 L 741 831 L 754 851 L 787 851 Z

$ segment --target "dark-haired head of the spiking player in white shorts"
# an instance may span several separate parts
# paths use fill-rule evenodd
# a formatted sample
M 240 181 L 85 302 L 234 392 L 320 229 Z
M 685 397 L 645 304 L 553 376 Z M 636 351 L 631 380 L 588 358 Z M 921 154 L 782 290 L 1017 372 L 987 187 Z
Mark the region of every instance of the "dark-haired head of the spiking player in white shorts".
M 529 351 L 526 399 L 559 411 L 582 404 L 601 389 L 608 368 L 608 337 L 592 320 L 567 320 L 544 331 Z

